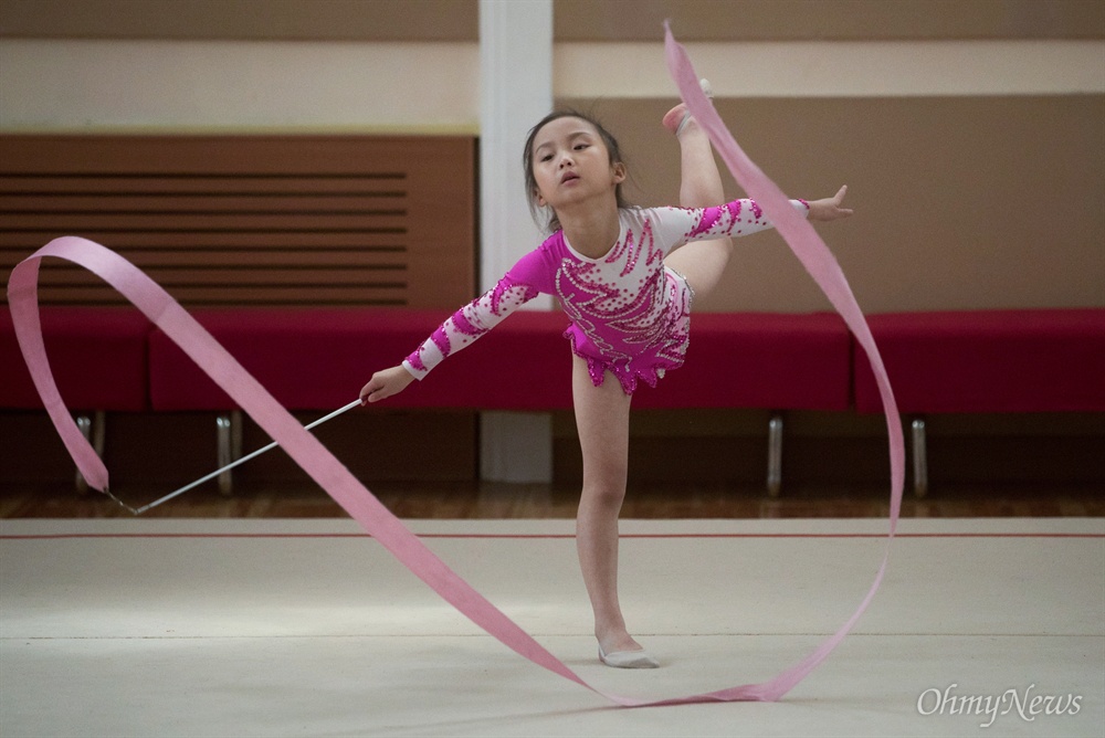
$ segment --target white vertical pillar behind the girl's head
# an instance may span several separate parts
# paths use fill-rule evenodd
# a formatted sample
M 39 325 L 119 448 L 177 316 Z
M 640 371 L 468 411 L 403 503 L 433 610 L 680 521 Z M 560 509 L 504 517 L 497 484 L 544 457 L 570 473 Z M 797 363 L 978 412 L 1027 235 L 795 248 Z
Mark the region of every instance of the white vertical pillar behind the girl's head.
M 480 284 L 486 291 L 537 246 L 522 149 L 552 107 L 552 0 L 480 0 Z M 551 301 L 529 304 L 549 309 Z M 480 474 L 497 482 L 551 482 L 548 413 L 487 412 Z

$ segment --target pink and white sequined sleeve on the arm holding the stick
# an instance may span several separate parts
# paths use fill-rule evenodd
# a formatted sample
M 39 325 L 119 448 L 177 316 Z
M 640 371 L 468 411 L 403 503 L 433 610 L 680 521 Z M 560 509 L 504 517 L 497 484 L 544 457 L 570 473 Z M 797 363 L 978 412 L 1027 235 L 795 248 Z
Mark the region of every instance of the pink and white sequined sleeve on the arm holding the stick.
M 450 354 L 470 346 L 539 293 L 550 293 L 555 270 L 545 250 L 526 254 L 498 284 L 442 323 L 403 360 L 403 367 L 421 380 Z

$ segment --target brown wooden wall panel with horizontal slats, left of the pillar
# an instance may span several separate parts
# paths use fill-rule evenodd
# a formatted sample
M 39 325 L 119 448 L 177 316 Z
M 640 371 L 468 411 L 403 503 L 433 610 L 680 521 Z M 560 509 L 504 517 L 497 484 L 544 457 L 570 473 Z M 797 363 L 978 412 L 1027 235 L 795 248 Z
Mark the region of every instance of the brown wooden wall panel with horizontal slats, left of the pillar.
M 0 267 L 60 235 L 187 305 L 454 308 L 475 270 L 470 137 L 0 137 Z M 118 304 L 75 266 L 44 304 Z

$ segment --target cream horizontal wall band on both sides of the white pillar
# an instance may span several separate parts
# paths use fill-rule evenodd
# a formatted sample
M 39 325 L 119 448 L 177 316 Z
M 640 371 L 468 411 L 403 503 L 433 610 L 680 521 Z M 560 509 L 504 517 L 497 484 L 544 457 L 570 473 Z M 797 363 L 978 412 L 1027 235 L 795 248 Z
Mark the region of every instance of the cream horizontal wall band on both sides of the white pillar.
M 687 44 L 718 97 L 1105 92 L 1105 41 Z M 561 43 L 557 97 L 669 97 L 662 45 Z M 0 39 L 0 130 L 480 128 L 475 43 Z

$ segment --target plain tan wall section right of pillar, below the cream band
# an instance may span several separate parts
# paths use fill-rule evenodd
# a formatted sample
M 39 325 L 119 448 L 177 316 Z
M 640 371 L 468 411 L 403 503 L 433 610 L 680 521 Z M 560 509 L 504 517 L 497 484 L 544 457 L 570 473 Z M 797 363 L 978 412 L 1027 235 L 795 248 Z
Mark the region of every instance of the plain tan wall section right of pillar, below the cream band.
M 564 101 L 620 135 L 640 204 L 678 198 L 670 101 Z M 791 197 L 849 186 L 819 230 L 867 312 L 1105 307 L 1105 97 L 723 99 L 738 143 Z M 743 193 L 725 172 L 726 193 Z M 736 242 L 699 309 L 831 309 L 771 232 Z

